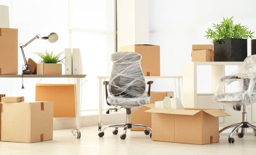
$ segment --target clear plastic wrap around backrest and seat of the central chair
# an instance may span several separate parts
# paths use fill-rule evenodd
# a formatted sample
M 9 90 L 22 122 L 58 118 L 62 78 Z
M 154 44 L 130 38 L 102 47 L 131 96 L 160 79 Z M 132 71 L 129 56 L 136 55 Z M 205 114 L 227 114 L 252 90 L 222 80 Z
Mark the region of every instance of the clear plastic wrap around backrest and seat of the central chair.
M 107 101 L 121 107 L 140 107 L 148 104 L 146 81 L 140 66 L 141 55 L 135 52 L 116 52 L 111 55 L 113 62 L 109 78 Z

